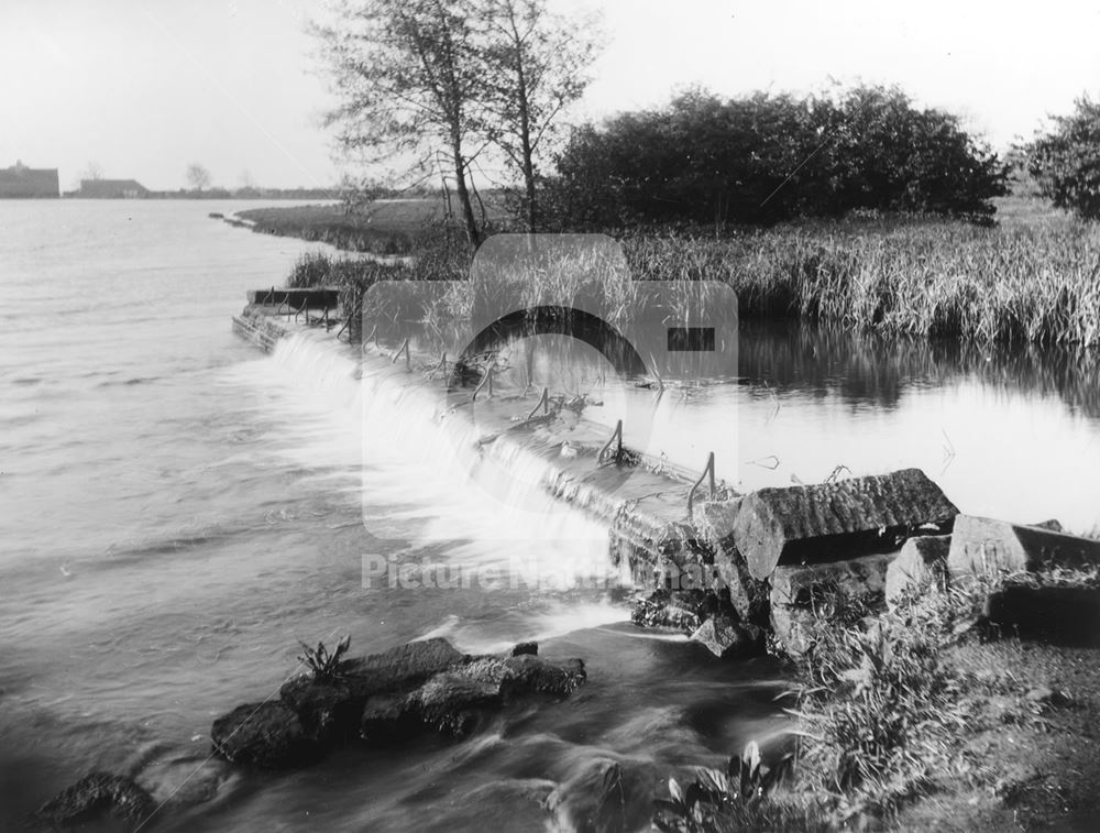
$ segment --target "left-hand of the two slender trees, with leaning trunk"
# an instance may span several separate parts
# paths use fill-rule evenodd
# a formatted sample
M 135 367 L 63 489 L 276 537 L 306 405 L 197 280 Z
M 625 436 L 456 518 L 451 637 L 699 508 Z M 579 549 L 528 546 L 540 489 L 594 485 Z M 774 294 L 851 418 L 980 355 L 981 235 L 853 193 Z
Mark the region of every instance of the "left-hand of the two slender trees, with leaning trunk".
M 469 0 L 343 0 L 339 26 L 317 26 L 345 152 L 370 163 L 439 164 L 454 180 L 466 238 L 481 239 L 469 185 L 484 100 Z

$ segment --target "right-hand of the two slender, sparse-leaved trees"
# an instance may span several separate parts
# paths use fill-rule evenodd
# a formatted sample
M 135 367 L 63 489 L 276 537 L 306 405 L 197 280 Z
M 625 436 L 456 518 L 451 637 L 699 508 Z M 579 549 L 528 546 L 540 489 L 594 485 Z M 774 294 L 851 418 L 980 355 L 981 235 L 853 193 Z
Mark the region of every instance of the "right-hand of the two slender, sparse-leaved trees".
M 546 0 L 479 0 L 486 107 L 483 131 L 524 185 L 527 230 L 536 230 L 537 155 L 556 119 L 579 99 L 596 57 L 593 21 L 551 14 Z

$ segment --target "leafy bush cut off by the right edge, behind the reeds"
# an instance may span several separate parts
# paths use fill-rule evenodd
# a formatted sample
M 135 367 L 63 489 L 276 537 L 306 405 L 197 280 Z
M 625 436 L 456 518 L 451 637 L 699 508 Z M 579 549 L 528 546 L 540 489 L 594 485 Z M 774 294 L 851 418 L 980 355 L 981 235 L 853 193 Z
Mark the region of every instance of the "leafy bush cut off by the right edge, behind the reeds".
M 1027 168 L 1054 205 L 1100 219 L 1100 105 L 1085 96 L 1075 107 L 1025 147 Z

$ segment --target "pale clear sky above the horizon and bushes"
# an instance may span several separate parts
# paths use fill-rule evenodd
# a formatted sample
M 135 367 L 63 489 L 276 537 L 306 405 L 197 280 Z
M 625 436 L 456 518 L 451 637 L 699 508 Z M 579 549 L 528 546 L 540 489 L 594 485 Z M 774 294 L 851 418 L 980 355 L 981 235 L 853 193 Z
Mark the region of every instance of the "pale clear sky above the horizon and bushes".
M 997 149 L 1085 92 L 1100 98 L 1100 3 L 933 0 L 549 0 L 602 17 L 573 122 L 721 95 L 898 84 Z M 320 0 L 0 0 L 0 167 L 57 167 L 154 189 L 189 164 L 216 185 L 324 187 L 345 169 L 307 33 Z

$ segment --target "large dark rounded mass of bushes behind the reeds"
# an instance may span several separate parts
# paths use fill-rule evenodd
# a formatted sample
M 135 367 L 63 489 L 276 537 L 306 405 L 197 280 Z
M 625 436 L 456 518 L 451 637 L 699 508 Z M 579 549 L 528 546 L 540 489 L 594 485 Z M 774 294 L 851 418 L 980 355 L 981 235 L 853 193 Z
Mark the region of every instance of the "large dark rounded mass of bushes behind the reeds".
M 982 218 L 1007 176 L 955 117 L 886 87 L 804 99 L 692 90 L 581 128 L 557 168 L 547 199 L 563 228 L 773 223 L 855 209 Z

